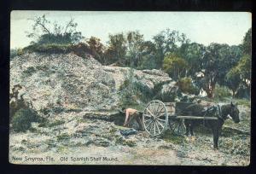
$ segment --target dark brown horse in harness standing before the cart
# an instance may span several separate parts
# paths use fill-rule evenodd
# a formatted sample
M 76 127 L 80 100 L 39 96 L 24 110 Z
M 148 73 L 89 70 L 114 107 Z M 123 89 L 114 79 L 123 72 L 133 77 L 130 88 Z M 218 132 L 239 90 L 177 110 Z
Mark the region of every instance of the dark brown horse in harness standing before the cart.
M 220 135 L 224 121 L 230 117 L 235 123 L 239 123 L 239 110 L 232 102 L 223 106 L 212 106 L 205 109 L 200 104 L 191 104 L 186 107 L 182 115 L 201 116 L 201 117 L 217 117 L 218 119 L 185 119 L 184 124 L 186 126 L 186 135 L 194 135 L 193 128 L 196 125 L 203 124 L 212 130 L 213 134 L 213 147 L 218 148 L 218 136 Z

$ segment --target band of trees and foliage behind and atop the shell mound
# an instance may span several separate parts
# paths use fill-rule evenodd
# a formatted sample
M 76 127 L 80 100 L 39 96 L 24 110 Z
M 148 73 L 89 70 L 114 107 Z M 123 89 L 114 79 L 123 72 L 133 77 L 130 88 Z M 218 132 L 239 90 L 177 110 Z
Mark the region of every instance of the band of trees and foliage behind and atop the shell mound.
M 240 45 L 212 43 L 205 46 L 191 43 L 185 34 L 168 28 L 156 34 L 153 41 L 144 40 L 143 34 L 138 31 L 109 34 L 108 44 L 104 45 L 100 38 L 95 37 L 86 39 L 85 43 L 79 43 L 84 37 L 81 32 L 76 31 L 78 24 L 73 19 L 65 26 L 47 20 L 45 14 L 31 20 L 32 32 L 27 36 L 34 41 L 24 49 L 12 49 L 11 59 L 15 55 L 32 51 L 49 54 L 73 52 L 82 57 L 89 54 L 102 65 L 163 69 L 174 80 L 183 78 L 179 80 L 180 85 L 183 85 L 180 90 L 189 94 L 196 94 L 198 88 L 205 90 L 207 96 L 212 98 L 216 84 L 219 84 L 229 87 L 233 96 L 236 96 L 238 91 L 238 96 L 249 96 L 241 94 L 249 94 L 251 88 L 251 28 Z M 127 81 L 129 80 L 127 78 Z M 148 100 L 145 97 L 149 94 L 147 87 L 135 81 L 129 85 L 131 87 L 126 91 L 126 97 L 137 93 L 135 96 L 142 97 L 144 101 Z M 131 99 L 128 98 L 127 102 Z

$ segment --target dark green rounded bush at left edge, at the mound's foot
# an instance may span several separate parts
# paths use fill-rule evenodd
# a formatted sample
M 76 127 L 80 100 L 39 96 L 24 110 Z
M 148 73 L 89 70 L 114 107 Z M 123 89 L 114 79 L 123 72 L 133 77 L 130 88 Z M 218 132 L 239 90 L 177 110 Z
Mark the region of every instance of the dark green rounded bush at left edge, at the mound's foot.
M 15 131 L 26 131 L 31 127 L 32 122 L 40 121 L 38 114 L 30 108 L 20 108 L 11 120 Z

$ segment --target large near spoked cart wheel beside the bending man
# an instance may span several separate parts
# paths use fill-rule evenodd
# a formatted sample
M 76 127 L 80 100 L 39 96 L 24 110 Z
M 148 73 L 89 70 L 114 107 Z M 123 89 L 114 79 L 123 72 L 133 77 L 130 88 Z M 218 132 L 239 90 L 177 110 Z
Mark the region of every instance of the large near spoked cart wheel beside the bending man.
M 158 100 L 151 101 L 143 112 L 143 127 L 151 136 L 159 136 L 166 130 L 168 114 L 166 106 Z

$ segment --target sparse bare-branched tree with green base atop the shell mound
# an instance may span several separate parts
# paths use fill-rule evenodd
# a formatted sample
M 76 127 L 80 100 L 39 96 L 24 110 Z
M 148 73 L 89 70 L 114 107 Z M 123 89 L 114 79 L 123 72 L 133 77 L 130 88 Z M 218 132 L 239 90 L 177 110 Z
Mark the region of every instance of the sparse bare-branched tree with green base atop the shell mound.
M 84 37 L 76 31 L 77 23 L 71 18 L 65 26 L 47 20 L 45 14 L 29 19 L 34 22 L 32 32 L 27 32 L 28 38 L 33 38 L 31 44 L 77 44 Z

